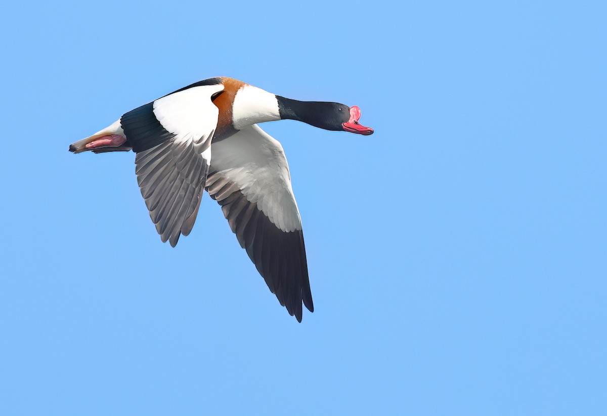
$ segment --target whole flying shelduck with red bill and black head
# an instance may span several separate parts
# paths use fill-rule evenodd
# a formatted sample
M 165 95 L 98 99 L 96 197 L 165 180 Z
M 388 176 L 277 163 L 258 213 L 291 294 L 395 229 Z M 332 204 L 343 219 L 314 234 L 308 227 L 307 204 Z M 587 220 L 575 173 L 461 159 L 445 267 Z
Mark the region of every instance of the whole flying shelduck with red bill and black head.
M 302 302 L 314 311 L 301 218 L 285 152 L 257 123 L 290 119 L 373 134 L 360 117 L 357 106 L 290 100 L 210 78 L 127 112 L 69 150 L 134 151 L 141 195 L 172 247 L 192 231 L 206 189 L 271 292 L 301 322 Z

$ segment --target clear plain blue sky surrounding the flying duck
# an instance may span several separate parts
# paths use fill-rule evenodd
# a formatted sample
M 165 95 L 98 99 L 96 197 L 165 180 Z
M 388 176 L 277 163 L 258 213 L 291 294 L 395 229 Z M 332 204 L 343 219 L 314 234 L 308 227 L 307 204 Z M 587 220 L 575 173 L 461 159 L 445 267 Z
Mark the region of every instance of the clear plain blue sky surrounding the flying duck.
M 0 414 L 607 414 L 604 2 L 3 5 Z M 280 140 L 316 312 L 208 196 L 161 244 L 70 143 L 226 75 L 358 105 Z

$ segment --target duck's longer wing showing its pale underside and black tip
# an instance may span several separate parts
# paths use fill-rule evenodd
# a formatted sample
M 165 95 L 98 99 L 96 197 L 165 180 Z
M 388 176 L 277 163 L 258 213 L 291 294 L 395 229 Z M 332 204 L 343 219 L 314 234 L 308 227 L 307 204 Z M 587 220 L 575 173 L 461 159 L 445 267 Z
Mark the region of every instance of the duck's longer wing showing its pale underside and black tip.
M 222 206 L 271 292 L 301 322 L 302 302 L 310 312 L 314 305 L 302 223 L 282 146 L 253 124 L 211 149 L 206 190 Z

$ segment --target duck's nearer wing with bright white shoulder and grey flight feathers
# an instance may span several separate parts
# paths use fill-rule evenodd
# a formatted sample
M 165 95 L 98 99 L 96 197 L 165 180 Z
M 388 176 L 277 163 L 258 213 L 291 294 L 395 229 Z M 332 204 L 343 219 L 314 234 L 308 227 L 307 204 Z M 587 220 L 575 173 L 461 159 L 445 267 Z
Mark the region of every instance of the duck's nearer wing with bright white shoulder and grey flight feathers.
M 120 119 L 127 143 L 137 153 L 141 195 L 161 240 L 172 247 L 194 226 L 219 115 L 211 97 L 222 90 L 223 84 L 192 84 Z

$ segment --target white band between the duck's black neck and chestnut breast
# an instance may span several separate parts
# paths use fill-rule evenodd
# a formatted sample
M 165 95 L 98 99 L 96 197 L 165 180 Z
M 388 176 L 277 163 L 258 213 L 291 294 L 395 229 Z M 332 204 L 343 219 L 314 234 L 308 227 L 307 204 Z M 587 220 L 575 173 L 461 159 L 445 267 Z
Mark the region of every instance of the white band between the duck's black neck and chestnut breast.
M 235 129 L 276 120 L 280 120 L 276 95 L 252 85 L 245 85 L 236 93 L 232 104 L 232 124 Z

